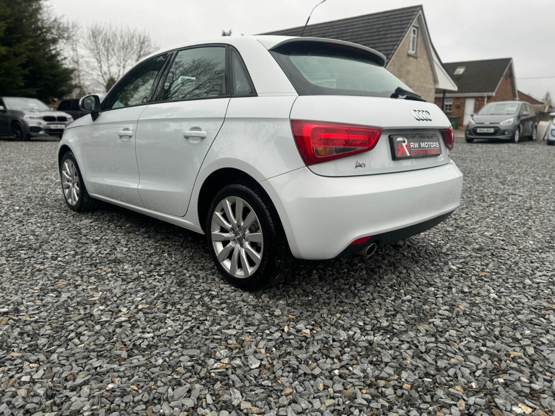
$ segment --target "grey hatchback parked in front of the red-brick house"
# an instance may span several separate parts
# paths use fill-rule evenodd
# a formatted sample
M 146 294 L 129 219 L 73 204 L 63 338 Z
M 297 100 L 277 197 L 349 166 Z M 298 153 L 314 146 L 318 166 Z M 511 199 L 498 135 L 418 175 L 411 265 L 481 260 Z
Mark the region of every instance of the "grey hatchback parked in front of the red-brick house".
M 536 140 L 538 123 L 532 106 L 522 101 L 500 101 L 483 106 L 466 125 L 465 139 Z

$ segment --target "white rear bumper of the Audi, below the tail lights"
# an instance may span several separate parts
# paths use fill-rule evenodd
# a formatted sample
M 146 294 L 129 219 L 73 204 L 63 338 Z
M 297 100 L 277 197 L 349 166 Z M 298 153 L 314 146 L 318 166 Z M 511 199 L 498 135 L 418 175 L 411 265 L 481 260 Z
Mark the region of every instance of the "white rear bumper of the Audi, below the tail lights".
M 462 173 L 453 161 L 436 168 L 356 177 L 319 176 L 301 168 L 261 185 L 278 210 L 293 255 L 321 260 L 340 255 L 361 237 L 450 214 L 460 203 Z

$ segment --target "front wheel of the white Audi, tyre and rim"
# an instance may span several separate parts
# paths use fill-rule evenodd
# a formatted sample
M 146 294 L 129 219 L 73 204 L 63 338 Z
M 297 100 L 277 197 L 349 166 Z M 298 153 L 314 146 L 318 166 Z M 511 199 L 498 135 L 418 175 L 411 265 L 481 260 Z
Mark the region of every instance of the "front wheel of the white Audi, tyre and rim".
M 91 197 L 87 192 L 77 160 L 70 151 L 62 158 L 60 180 L 65 203 L 70 209 L 75 212 L 83 212 L 93 211 L 98 207 L 100 201 Z

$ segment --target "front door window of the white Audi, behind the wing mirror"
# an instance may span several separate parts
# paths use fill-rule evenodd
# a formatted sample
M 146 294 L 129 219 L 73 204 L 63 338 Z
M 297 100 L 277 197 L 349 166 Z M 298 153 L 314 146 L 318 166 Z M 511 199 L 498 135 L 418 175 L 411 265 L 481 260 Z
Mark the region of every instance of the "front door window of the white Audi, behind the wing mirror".
M 167 54 L 158 55 L 130 70 L 110 91 L 103 103 L 103 109 L 147 103 L 154 80 L 162 69 L 166 57 Z

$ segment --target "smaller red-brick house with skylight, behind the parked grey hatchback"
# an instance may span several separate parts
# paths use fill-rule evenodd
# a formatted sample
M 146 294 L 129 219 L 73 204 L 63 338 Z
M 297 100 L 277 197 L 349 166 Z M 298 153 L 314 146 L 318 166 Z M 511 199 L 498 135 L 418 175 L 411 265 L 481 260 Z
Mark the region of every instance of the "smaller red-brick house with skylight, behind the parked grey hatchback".
M 487 103 L 518 100 L 512 58 L 451 62 L 443 67 L 458 90 L 436 89 L 435 103 L 448 117 L 457 118 L 460 129 Z

